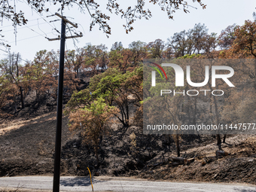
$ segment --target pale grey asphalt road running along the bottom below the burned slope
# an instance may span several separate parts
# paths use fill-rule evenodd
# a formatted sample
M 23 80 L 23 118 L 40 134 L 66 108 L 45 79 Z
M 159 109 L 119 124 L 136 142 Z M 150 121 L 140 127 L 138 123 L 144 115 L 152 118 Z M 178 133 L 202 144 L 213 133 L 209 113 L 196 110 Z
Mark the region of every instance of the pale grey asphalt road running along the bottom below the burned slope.
M 0 187 L 21 187 L 26 189 L 51 190 L 53 177 L 26 176 L 0 178 Z M 211 183 L 180 183 L 167 181 L 146 181 L 130 178 L 93 178 L 94 191 L 228 191 L 252 192 L 256 186 L 246 184 L 211 184 Z M 60 190 L 62 191 L 92 191 L 90 178 L 61 177 Z

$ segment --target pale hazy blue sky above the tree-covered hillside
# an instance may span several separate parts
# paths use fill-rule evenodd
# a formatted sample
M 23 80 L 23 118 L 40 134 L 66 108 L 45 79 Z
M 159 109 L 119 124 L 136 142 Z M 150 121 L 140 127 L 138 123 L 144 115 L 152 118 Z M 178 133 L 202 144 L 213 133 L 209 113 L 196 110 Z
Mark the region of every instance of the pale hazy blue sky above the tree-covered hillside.
M 134 2 L 134 1 L 129 1 Z M 132 41 L 145 41 L 146 43 L 154 41 L 157 38 L 166 41 L 175 32 L 180 32 L 184 29 L 191 29 L 196 23 L 205 23 L 210 32 L 217 32 L 218 35 L 222 29 L 236 23 L 242 25 L 245 20 L 252 20 L 252 13 L 256 8 L 256 1 L 246 0 L 202 0 L 206 4 L 206 9 L 202 9 L 197 3 L 191 3 L 196 8 L 190 8 L 190 13 L 185 14 L 184 11 L 177 11 L 174 14 L 174 20 L 169 20 L 166 12 L 160 11 L 158 5 L 146 4 L 151 9 L 153 17 L 150 20 L 136 20 L 133 25 L 133 31 L 128 35 L 123 29 L 125 20 L 121 20 L 120 16 L 111 15 L 109 24 L 111 26 L 111 35 L 109 38 L 99 31 L 99 27 L 95 26 L 90 32 L 90 16 L 89 14 L 81 14 L 78 8 L 71 8 L 64 12 L 64 15 L 73 23 L 78 23 L 78 32 L 82 32 L 84 37 L 78 38 L 76 42 L 77 47 L 84 47 L 87 43 L 91 44 L 105 44 L 108 49 L 115 41 L 121 41 L 123 47 L 128 47 Z M 126 5 L 128 1 L 125 2 Z M 131 4 L 132 5 L 132 4 Z M 55 13 L 54 7 L 51 6 L 51 13 Z M 39 50 L 59 50 L 59 41 L 47 41 L 47 38 L 56 38 L 58 33 L 53 29 L 56 28 L 60 31 L 59 17 L 47 17 L 51 13 L 43 14 L 40 16 L 26 5 L 25 2 L 17 2 L 17 10 L 22 9 L 29 22 L 26 26 L 17 27 L 17 44 L 15 44 L 14 28 L 11 23 L 5 20 L 0 29 L 2 34 L 5 35 L 5 41 L 11 45 L 11 52 L 20 52 L 23 59 L 32 60 L 35 53 Z M 43 19 L 44 18 L 44 19 Z M 47 23 L 47 22 L 48 23 Z M 33 30 L 33 31 L 32 31 Z M 70 34 L 67 34 L 70 35 Z M 4 47 L 0 47 L 5 50 Z M 66 40 L 66 49 L 74 49 L 74 42 L 72 39 Z M 0 50 L 0 59 L 3 59 L 7 53 Z

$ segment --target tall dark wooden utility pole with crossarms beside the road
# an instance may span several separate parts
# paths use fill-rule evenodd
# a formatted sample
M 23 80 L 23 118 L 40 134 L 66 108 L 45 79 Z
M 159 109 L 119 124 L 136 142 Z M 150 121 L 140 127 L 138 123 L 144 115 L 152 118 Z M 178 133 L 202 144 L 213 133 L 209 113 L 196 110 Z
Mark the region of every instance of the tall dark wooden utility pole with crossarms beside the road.
M 75 26 L 75 28 L 78 28 L 78 25 L 70 22 L 69 20 L 66 19 L 66 17 L 62 17 L 60 14 L 56 13 L 56 16 L 58 16 L 62 19 L 61 37 L 60 38 L 48 38 L 49 41 L 54 41 L 54 40 L 60 39 L 59 82 L 58 82 L 58 99 L 57 99 L 57 124 L 56 124 L 54 172 L 53 172 L 53 192 L 59 192 L 65 40 L 66 40 L 66 38 L 78 38 L 78 37 L 83 36 L 83 35 L 75 35 L 75 36 L 71 36 L 71 37 L 66 37 L 66 24 L 69 23 L 72 26 Z

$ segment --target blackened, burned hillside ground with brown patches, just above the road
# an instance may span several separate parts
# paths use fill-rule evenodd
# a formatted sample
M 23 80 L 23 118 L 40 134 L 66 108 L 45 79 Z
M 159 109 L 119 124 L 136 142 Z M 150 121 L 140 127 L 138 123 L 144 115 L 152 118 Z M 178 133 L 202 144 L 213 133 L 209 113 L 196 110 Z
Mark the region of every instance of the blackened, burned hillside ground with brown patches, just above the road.
M 93 147 L 79 133 L 69 132 L 62 118 L 61 175 L 136 176 L 171 181 L 212 181 L 256 184 L 256 137 L 228 136 L 225 157 L 215 157 L 214 136 L 181 136 L 181 157 L 194 162 L 173 165 L 175 142 L 164 136 L 143 135 L 136 126 L 113 125 L 99 148 L 99 165 Z M 52 175 L 56 112 L 38 117 L 2 120 L 0 126 L 0 176 Z M 134 133 L 134 134 L 133 134 Z

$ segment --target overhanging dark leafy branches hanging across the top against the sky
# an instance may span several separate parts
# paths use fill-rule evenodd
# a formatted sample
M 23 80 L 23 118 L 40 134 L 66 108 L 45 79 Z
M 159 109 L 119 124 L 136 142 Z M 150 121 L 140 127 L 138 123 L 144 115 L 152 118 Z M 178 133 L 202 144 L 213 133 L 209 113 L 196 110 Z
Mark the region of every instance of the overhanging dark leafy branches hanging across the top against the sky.
M 108 2 L 102 3 L 96 0 L 24 0 L 31 8 L 37 11 L 39 14 L 52 10 L 52 5 L 59 5 L 59 11 L 64 11 L 66 8 L 72 8 L 74 5 L 78 6 L 81 13 L 88 13 L 91 17 L 90 30 L 96 24 L 99 25 L 99 29 L 108 36 L 111 34 L 111 26 L 108 24 L 110 20 L 110 14 L 117 14 L 125 20 L 123 27 L 126 33 L 133 30 L 133 23 L 138 20 L 145 18 L 146 20 L 152 17 L 151 10 L 147 8 L 148 4 L 159 5 L 162 11 L 166 11 L 169 19 L 173 18 L 175 11 L 181 9 L 185 13 L 189 12 L 189 8 L 192 7 L 190 3 L 197 2 L 202 8 L 206 8 L 201 0 L 137 0 L 134 5 L 129 5 L 127 8 L 123 8 L 124 3 L 119 3 L 117 0 L 108 0 Z M 107 10 L 107 11 L 105 11 Z M 13 0 L 2 0 L 0 1 L 0 22 L 3 20 L 11 20 L 14 26 L 25 25 L 27 18 L 24 15 L 23 10 L 19 8 L 18 2 Z M 1 32 L 1 30 L 0 30 Z

